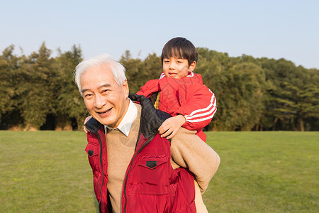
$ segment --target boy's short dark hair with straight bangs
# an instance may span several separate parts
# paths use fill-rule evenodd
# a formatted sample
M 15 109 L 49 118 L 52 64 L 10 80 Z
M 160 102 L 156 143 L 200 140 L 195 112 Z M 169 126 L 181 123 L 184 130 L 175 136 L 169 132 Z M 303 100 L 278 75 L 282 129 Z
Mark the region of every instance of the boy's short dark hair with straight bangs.
M 163 65 L 164 58 L 182 58 L 187 59 L 189 66 L 192 62 L 197 62 L 198 53 L 195 46 L 186 38 L 172 38 L 169 40 L 162 50 L 161 60 Z

